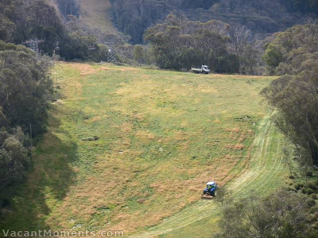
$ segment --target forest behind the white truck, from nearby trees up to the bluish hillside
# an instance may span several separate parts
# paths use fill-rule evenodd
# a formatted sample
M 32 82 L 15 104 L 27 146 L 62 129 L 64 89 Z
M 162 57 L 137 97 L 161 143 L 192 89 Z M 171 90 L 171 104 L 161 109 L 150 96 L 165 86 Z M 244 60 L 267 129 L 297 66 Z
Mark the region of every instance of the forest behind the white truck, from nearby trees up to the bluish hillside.
M 111 2 L 118 29 L 131 43 L 148 44 L 144 63 L 178 70 L 208 64 L 215 72 L 252 75 L 270 71 L 262 55 L 272 34 L 303 24 L 318 12 L 313 0 Z M 211 22 L 227 29 L 219 34 L 220 29 L 209 28 Z

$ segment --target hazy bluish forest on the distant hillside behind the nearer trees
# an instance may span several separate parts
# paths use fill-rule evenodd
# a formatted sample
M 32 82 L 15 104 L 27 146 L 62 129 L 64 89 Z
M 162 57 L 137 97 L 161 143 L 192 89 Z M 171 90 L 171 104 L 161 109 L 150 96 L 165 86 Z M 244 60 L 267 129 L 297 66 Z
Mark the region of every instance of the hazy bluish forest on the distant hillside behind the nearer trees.
M 206 22 L 212 19 L 239 23 L 254 33 L 274 33 L 299 24 L 306 14 L 317 14 L 315 0 L 111 0 L 114 23 L 142 43 L 145 30 L 167 14 Z M 270 7 L 269 7 L 270 6 Z

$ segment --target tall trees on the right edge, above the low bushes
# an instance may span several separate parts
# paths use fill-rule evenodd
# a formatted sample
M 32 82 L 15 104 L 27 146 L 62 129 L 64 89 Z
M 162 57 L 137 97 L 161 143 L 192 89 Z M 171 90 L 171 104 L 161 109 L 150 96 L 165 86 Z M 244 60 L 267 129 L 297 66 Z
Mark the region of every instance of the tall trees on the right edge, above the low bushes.
M 264 59 L 281 75 L 262 91 L 278 109 L 276 124 L 304 166 L 318 166 L 318 24 L 294 26 L 267 45 Z

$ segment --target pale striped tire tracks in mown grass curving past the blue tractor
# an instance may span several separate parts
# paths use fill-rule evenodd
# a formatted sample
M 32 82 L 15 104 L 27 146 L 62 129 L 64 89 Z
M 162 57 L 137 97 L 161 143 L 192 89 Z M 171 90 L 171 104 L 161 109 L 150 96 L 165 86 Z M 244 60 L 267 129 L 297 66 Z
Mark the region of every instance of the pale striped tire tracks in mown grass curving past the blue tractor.
M 281 153 L 284 144 L 283 136 L 277 133 L 270 118 L 271 115 L 268 115 L 258 124 L 252 143 L 251 168 L 228 185 L 233 192 L 234 199 L 246 197 L 250 190 L 269 193 L 283 184 L 283 177 L 286 174 Z M 271 183 L 274 185 L 270 186 Z M 191 226 L 191 224 L 215 216 L 217 213 L 219 213 L 219 209 L 213 201 L 200 200 L 164 219 L 163 222 L 150 228 L 149 231 L 129 237 L 157 237 Z

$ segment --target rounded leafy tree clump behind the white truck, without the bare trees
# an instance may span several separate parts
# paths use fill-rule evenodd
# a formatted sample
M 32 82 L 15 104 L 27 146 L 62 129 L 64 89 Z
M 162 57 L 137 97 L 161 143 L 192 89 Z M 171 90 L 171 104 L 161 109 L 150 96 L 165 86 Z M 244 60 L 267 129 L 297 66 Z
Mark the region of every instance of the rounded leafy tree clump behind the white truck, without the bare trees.
M 160 68 L 179 70 L 208 64 L 218 73 L 239 72 L 239 57 L 230 51 L 228 25 L 223 22 L 199 23 L 168 15 L 163 24 L 148 28 L 144 39 L 151 43 L 150 52 Z

